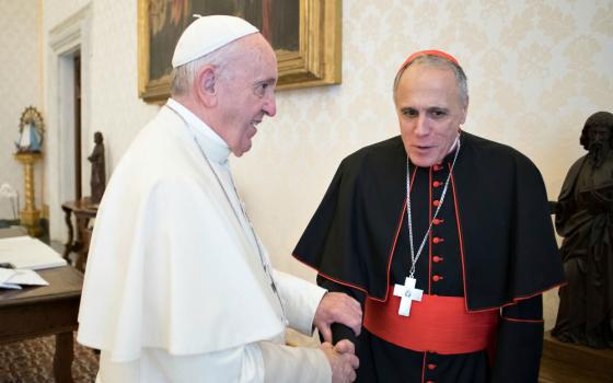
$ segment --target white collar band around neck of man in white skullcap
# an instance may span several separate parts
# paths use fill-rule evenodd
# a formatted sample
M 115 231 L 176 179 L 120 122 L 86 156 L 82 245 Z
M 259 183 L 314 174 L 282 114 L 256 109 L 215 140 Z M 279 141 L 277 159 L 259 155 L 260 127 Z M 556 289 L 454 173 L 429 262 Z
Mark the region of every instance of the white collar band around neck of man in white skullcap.
M 211 161 L 219 164 L 228 162 L 230 148 L 228 148 L 228 143 L 215 130 L 176 100 L 169 98 L 166 105 L 185 118 L 187 128 L 194 134 L 196 140 Z

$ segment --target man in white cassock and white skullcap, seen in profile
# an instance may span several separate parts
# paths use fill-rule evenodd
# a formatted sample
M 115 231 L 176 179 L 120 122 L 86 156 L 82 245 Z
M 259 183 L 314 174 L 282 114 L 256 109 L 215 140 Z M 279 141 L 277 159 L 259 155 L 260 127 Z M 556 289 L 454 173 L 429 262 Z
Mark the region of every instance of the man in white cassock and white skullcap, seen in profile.
M 196 20 L 174 51 L 172 98 L 114 171 L 96 217 L 79 343 L 97 382 L 351 382 L 360 330 L 349 297 L 276 271 L 250 224 L 228 156 L 274 116 L 277 65 L 258 31 Z M 319 348 L 285 346 L 286 326 Z

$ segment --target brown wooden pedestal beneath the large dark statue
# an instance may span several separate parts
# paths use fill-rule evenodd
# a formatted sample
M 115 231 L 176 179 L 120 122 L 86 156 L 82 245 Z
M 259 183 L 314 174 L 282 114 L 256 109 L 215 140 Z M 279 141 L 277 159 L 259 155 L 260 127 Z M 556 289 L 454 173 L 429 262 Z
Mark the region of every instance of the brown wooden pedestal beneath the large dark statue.
M 565 344 L 545 333 L 540 382 L 613 382 L 613 349 Z

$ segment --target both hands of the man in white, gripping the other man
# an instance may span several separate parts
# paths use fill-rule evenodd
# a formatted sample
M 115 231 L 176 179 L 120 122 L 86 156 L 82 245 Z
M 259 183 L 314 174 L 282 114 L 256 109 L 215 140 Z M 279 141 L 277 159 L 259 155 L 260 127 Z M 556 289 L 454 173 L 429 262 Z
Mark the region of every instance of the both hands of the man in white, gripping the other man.
M 313 323 L 319 328 L 323 343 L 320 349 L 325 353 L 332 368 L 333 383 L 350 383 L 356 380 L 359 367 L 356 348 L 350 340 L 343 339 L 333 346 L 331 325 L 340 323 L 360 334 L 362 310 L 358 301 L 339 292 L 327 292 L 322 298 Z

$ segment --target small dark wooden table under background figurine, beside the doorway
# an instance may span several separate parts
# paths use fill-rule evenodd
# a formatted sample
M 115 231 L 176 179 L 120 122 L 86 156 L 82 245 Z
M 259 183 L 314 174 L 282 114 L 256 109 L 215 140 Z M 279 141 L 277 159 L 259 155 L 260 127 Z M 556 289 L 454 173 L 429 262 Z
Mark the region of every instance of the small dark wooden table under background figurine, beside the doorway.
M 61 209 L 63 210 L 66 225 L 68 227 L 68 242 L 63 245 L 63 258 L 69 260 L 68 255 L 72 252 L 77 253 L 74 267 L 78 270 L 85 271 L 92 232 L 90 221 L 96 216 L 97 205 L 92 205 L 89 198 L 83 198 L 63 202 L 61 204 Z M 74 214 L 77 232 L 72 228 L 71 214 Z

